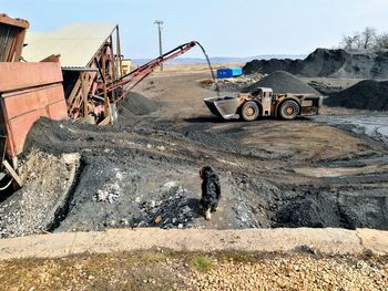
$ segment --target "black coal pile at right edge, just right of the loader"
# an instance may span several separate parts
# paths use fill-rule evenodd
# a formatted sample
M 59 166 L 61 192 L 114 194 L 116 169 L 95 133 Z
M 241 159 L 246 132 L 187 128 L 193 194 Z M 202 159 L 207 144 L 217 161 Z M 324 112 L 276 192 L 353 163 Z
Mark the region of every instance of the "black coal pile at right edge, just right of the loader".
M 331 94 L 325 105 L 369 111 L 388 111 L 388 81 L 366 80 Z

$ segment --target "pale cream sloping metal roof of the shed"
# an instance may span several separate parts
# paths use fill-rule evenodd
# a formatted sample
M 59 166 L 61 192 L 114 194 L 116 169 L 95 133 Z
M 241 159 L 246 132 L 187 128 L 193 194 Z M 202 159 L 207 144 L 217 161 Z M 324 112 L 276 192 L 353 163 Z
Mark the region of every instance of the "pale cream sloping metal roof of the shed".
M 28 62 L 40 62 L 60 54 L 62 67 L 85 67 L 115 27 L 100 22 L 70 23 L 52 32 L 28 32 L 23 58 Z

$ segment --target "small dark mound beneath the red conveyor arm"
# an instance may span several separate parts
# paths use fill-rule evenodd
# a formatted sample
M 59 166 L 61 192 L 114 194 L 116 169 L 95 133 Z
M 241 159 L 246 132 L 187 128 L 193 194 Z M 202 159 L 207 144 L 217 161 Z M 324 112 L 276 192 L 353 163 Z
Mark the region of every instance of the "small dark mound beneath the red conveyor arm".
M 159 108 L 156 102 L 139 94 L 130 92 L 119 105 L 119 114 L 123 117 L 131 118 L 136 115 L 146 115 Z

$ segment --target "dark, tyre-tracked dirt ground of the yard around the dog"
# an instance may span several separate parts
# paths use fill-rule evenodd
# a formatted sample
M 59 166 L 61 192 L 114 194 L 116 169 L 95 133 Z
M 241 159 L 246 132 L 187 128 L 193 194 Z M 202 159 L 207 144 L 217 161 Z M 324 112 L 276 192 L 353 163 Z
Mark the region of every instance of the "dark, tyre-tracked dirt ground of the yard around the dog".
M 384 141 L 314 117 L 224 122 L 203 103 L 215 94 L 197 85 L 206 77 L 208 72 L 152 75 L 136 92 L 160 108 L 115 125 L 40 121 L 27 147 L 79 154 L 74 187 L 54 221 L 31 230 L 25 220 L 17 232 L 0 224 L 1 236 L 139 226 L 388 229 Z M 198 207 L 203 165 L 217 170 L 222 185 L 211 221 Z M 0 210 L 18 211 L 22 206 L 8 206 L 14 197 L 3 198 Z M 34 211 L 44 216 L 47 209 L 37 205 Z

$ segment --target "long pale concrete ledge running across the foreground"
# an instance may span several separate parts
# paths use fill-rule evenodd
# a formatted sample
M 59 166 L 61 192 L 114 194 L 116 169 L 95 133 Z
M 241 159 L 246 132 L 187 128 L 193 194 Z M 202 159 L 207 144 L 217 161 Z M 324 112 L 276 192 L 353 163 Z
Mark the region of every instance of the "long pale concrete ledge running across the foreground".
M 84 252 L 106 253 L 147 250 L 172 251 L 279 251 L 307 247 L 326 254 L 358 254 L 370 250 L 388 254 L 388 231 L 357 229 L 242 229 L 201 230 L 159 228 L 61 232 L 0 240 L 0 259 L 58 258 Z

